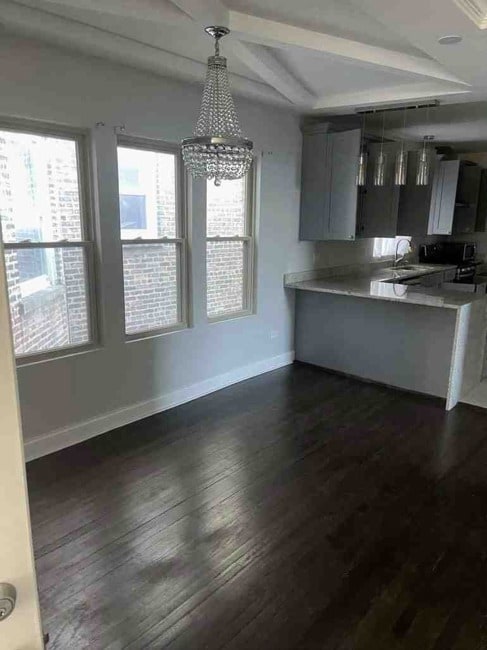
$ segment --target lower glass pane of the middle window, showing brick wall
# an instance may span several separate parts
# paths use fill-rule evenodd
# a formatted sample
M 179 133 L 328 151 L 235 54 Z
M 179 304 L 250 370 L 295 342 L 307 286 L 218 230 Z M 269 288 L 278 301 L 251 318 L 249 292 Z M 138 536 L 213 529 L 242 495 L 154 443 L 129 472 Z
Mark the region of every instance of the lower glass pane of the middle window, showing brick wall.
M 125 331 L 148 332 L 181 321 L 178 244 L 125 244 Z

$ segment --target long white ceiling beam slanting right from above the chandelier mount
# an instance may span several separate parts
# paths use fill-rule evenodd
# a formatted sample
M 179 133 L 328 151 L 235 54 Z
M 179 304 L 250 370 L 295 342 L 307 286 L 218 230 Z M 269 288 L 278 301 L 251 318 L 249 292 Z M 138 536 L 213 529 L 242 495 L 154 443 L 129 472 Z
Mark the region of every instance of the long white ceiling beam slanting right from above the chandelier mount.
M 300 47 L 355 62 L 373 64 L 410 76 L 431 77 L 458 84 L 464 83 L 432 59 L 367 45 L 359 41 L 258 18 L 238 11 L 229 12 L 229 27 L 238 38 L 244 41 L 273 47 Z

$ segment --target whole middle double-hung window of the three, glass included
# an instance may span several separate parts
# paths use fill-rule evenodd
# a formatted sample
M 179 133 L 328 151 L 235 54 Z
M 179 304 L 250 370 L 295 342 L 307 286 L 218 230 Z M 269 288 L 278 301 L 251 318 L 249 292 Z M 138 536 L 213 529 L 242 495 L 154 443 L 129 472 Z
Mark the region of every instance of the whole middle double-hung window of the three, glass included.
M 179 147 L 119 139 L 120 233 L 128 338 L 187 326 L 183 178 Z

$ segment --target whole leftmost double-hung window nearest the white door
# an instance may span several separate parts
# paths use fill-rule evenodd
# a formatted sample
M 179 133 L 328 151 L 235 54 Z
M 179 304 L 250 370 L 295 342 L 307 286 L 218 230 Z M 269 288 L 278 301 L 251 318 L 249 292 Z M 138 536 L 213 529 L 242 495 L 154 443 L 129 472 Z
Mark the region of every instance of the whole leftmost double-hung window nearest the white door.
M 15 354 L 95 340 L 85 137 L 0 127 L 0 220 Z

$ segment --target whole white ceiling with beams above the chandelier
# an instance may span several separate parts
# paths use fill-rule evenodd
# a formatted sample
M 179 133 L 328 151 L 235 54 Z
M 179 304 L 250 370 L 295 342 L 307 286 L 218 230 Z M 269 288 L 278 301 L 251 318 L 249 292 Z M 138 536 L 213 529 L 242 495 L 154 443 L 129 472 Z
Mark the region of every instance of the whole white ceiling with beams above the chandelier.
M 202 82 L 226 24 L 236 95 L 302 114 L 487 100 L 485 0 L 0 0 L 7 31 Z M 438 38 L 463 41 L 441 46 Z

